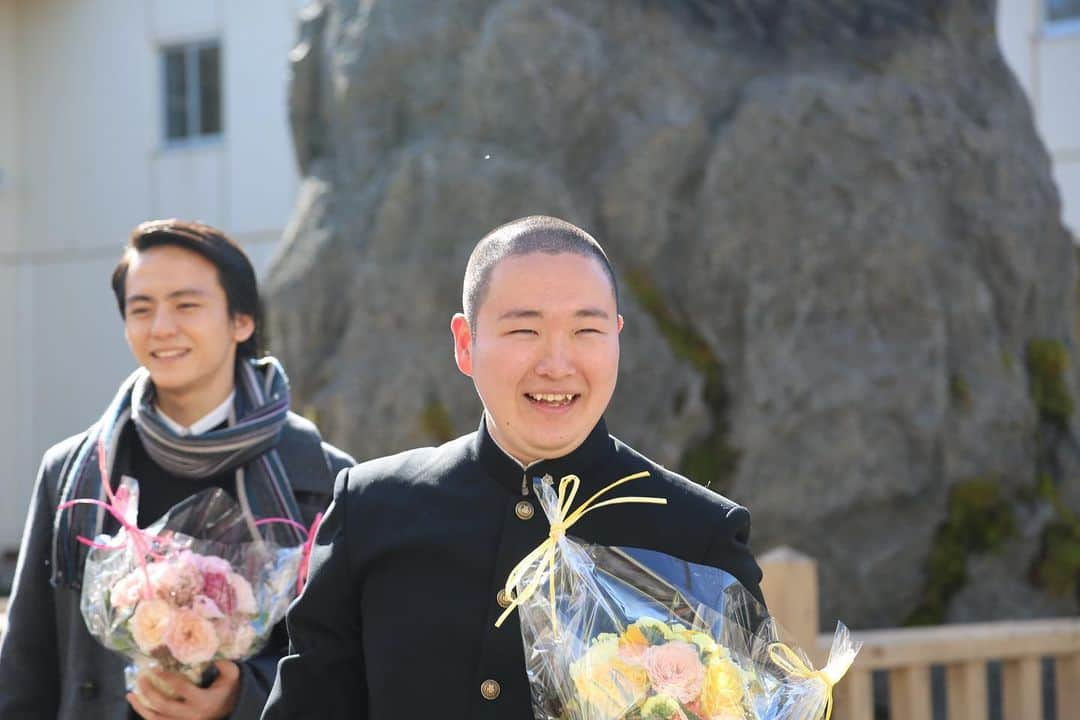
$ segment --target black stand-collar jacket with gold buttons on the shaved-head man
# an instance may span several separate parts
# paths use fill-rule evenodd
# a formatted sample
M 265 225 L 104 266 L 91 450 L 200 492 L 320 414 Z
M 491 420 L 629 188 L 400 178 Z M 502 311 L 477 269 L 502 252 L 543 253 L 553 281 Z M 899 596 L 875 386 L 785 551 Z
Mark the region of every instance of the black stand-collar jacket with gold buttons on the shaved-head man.
M 516 613 L 495 627 L 507 574 L 548 535 L 531 480 L 578 475 L 580 502 L 643 470 L 650 476 L 612 495 L 666 506 L 599 508 L 571 533 L 721 568 L 760 598 L 746 508 L 651 462 L 603 421 L 570 454 L 527 471 L 482 423 L 338 476 L 264 719 L 531 718 Z

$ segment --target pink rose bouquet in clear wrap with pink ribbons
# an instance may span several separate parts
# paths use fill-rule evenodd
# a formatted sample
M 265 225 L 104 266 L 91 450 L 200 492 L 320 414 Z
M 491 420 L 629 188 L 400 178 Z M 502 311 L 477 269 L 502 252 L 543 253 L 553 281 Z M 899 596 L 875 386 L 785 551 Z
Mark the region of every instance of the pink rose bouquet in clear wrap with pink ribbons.
M 146 529 L 135 525 L 135 480 L 123 478 L 110 500 L 122 527 L 87 541 L 81 609 L 91 635 L 131 658 L 129 685 L 148 666 L 200 682 L 214 661 L 262 649 L 296 595 L 308 545 L 272 542 L 266 520 L 216 488 Z

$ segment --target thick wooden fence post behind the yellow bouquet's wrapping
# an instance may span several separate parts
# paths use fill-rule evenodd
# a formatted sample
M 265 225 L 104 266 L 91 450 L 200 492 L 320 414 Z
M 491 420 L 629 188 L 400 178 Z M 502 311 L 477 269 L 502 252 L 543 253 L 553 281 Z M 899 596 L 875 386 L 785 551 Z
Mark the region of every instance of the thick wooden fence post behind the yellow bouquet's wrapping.
M 814 663 L 818 650 L 818 563 L 791 547 L 777 547 L 759 558 L 761 593 L 769 614 L 777 619 Z

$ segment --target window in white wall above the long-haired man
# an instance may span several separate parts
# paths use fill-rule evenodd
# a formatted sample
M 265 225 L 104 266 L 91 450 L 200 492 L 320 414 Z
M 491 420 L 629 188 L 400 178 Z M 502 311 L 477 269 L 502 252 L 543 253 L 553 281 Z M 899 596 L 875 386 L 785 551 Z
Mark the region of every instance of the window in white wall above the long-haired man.
M 221 135 L 221 45 L 218 41 L 161 51 L 165 141 Z

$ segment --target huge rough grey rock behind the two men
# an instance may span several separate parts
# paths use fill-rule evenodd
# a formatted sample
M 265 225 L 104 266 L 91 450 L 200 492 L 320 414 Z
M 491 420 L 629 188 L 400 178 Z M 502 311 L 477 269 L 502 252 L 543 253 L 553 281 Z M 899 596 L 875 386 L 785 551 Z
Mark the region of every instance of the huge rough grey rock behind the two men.
M 907 617 L 972 478 L 1018 530 L 968 559 L 948 616 L 1075 611 L 1028 582 L 1058 450 L 1025 371 L 1034 339 L 1074 351 L 1075 262 L 991 5 L 313 3 L 268 283 L 298 405 L 361 458 L 472 430 L 465 258 L 557 215 L 622 277 L 609 425 L 747 504 L 756 547 L 819 558 L 826 624 Z

